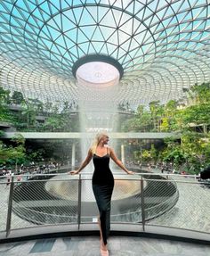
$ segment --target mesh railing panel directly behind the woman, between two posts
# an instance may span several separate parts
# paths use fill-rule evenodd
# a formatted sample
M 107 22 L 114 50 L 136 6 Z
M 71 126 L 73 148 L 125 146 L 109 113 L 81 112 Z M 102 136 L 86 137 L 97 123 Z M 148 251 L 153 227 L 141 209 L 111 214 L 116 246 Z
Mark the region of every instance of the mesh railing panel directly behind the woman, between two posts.
M 115 179 L 111 200 L 111 222 L 141 222 L 141 180 L 127 179 L 127 175 L 125 177 Z M 82 180 L 81 222 L 97 222 L 98 215 L 92 181 L 85 178 Z

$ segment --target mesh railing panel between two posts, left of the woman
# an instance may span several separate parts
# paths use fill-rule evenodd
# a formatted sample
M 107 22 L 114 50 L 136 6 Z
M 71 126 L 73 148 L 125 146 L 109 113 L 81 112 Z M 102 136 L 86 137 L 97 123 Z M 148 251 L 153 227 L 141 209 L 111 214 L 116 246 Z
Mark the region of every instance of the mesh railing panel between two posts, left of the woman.
M 11 227 L 77 223 L 77 204 L 77 179 L 36 176 L 25 182 L 15 182 Z

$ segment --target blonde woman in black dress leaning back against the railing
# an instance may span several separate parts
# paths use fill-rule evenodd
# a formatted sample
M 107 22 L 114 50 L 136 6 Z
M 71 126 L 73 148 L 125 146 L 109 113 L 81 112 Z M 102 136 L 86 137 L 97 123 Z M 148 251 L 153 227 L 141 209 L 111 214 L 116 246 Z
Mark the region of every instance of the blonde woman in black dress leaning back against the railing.
M 69 172 L 72 175 L 78 174 L 93 158 L 94 172 L 92 185 L 93 194 L 100 211 L 100 218 L 98 220 L 101 235 L 101 255 L 103 256 L 109 255 L 107 239 L 110 229 L 110 201 L 114 187 L 114 178 L 109 169 L 109 159 L 111 158 L 115 161 L 127 174 L 134 174 L 133 171 L 126 169 L 123 163 L 117 159 L 113 149 L 108 147 L 108 142 L 109 136 L 107 134 L 98 134 L 79 169 Z

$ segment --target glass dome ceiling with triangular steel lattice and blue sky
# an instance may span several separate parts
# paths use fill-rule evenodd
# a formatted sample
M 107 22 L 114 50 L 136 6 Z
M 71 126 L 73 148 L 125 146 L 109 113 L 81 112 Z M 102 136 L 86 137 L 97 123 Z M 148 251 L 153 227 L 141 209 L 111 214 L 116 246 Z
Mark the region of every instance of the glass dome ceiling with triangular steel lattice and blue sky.
M 209 29 L 209 0 L 0 1 L 0 83 L 77 102 L 74 64 L 105 55 L 124 70 L 116 103 L 164 103 L 210 80 Z

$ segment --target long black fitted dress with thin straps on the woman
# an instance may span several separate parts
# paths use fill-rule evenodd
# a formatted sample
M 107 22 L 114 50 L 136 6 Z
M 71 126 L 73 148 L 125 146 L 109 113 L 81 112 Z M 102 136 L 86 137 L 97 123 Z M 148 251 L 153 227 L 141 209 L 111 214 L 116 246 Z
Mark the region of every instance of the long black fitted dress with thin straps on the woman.
M 110 229 L 111 194 L 114 178 L 109 169 L 109 153 L 104 156 L 93 154 L 93 194 L 100 211 L 103 243 L 107 244 Z

